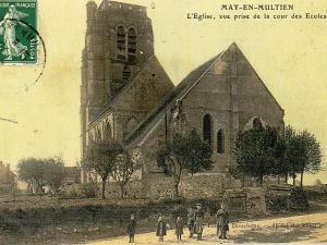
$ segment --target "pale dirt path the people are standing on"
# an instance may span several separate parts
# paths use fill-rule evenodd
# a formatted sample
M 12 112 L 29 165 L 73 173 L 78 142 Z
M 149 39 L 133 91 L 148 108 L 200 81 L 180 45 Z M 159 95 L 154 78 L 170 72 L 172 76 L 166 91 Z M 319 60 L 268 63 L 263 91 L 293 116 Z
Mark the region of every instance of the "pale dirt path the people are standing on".
M 155 230 L 155 228 L 154 228 Z M 187 238 L 184 229 L 183 242 L 177 242 L 174 231 L 168 231 L 164 243 L 157 242 L 154 232 L 136 234 L 135 244 L 220 244 L 220 243 L 327 243 L 327 212 L 294 216 L 289 218 L 265 219 L 230 224 L 228 240 L 218 240 L 215 228 L 205 228 L 203 241 Z M 89 242 L 87 245 L 128 244 L 128 237 Z

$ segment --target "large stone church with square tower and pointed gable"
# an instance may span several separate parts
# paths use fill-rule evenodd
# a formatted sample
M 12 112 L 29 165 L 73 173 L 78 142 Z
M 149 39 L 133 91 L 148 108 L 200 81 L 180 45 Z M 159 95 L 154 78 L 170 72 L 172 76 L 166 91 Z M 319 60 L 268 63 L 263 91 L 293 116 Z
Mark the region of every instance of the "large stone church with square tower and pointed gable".
M 164 173 L 157 149 L 174 132 L 195 128 L 211 146 L 210 172 L 226 174 L 235 164 L 239 132 L 258 121 L 282 132 L 283 114 L 235 44 L 174 86 L 156 58 L 146 8 L 111 0 L 87 3 L 82 155 L 88 144 L 114 138 L 142 156 L 142 181 L 158 180 Z

